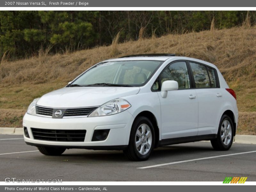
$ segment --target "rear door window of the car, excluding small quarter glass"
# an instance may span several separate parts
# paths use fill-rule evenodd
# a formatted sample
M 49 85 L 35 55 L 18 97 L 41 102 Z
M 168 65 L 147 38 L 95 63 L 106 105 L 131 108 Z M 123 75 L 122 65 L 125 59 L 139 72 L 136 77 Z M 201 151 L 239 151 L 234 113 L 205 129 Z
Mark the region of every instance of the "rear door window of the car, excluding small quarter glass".
M 190 62 L 196 88 L 211 87 L 207 69 L 204 65 Z

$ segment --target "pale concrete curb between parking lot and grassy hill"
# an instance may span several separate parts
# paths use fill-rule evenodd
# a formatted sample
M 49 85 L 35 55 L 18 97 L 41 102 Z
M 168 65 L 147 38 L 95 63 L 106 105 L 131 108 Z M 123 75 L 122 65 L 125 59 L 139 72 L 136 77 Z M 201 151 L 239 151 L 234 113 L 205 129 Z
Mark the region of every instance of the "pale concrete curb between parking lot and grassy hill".
M 23 129 L 22 128 L 0 127 L 0 134 L 23 135 Z M 255 144 L 256 145 L 256 135 L 236 135 L 236 139 L 235 139 L 234 143 Z

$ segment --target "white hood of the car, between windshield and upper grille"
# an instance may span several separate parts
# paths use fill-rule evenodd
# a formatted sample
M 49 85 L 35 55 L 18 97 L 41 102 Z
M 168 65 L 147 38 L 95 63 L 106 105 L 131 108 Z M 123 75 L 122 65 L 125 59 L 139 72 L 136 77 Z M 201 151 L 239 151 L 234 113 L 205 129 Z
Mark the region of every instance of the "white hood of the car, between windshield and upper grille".
M 36 104 L 51 108 L 100 106 L 139 91 L 139 87 L 64 87 L 43 95 Z

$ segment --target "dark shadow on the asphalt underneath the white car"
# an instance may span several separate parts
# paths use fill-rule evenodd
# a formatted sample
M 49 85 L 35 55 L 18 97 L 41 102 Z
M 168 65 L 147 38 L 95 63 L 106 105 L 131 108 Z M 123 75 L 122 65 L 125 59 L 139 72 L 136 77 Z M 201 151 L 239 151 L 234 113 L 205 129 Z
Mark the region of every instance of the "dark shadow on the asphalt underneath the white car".
M 158 160 L 163 158 L 170 158 L 175 156 L 191 156 L 194 158 L 195 154 L 205 154 L 215 152 L 210 143 L 205 145 L 203 143 L 187 143 L 179 145 L 163 146 L 154 149 L 152 156 L 148 159 Z M 202 145 L 203 144 L 203 145 Z M 220 154 L 220 151 L 216 151 Z M 215 154 L 215 153 L 214 153 Z M 67 162 L 84 162 L 88 161 L 98 161 L 98 162 L 132 162 L 126 158 L 123 151 L 105 151 L 105 150 L 86 150 L 86 149 L 67 149 L 61 156 L 44 156 L 40 154 L 40 159 L 50 160 L 50 161 L 67 161 Z

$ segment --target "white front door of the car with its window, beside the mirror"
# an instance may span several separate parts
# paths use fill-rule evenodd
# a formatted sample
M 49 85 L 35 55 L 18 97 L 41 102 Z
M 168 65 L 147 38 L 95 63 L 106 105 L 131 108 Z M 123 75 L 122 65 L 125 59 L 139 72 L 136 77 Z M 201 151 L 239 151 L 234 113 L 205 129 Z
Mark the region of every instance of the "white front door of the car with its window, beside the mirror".
M 179 89 L 168 91 L 166 98 L 158 92 L 161 103 L 162 139 L 196 136 L 198 100 L 195 89 L 191 89 L 188 63 L 186 61 L 170 63 L 152 88 L 161 90 L 161 85 L 166 80 L 177 81 Z

